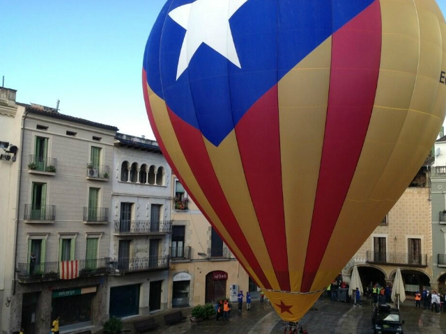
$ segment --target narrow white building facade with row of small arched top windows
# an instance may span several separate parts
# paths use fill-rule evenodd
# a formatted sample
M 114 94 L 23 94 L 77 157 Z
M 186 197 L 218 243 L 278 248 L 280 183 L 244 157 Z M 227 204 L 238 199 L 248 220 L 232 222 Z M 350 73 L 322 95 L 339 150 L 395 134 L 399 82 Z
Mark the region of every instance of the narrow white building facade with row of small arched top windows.
M 156 141 L 116 134 L 108 310 L 111 317 L 167 308 L 171 168 Z

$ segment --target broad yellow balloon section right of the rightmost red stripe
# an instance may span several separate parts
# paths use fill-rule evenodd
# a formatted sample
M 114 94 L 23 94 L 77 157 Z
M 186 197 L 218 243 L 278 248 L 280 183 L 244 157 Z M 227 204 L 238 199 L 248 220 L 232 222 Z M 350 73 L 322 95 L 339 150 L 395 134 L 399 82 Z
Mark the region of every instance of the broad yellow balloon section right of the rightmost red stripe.
M 377 212 L 384 217 L 392 209 L 426 159 L 426 143 L 434 141 L 445 115 L 445 87 L 438 83 L 441 64 L 445 64 L 440 52 L 446 44 L 439 24 L 443 18 L 424 10 L 433 0 L 415 1 L 416 8 L 413 0 L 380 3 L 383 49 L 374 111 L 346 202 L 312 289 L 327 286 L 344 267 L 342 259 L 351 258 L 373 232 L 379 221 L 369 217 Z M 419 35 L 425 25 L 432 29 L 435 24 L 438 29 Z M 436 58 L 431 65 L 420 67 L 418 61 L 408 61 L 420 60 L 433 50 Z M 442 102 L 431 104 L 429 100 L 436 96 Z M 351 230 L 356 231 L 355 236 L 346 242 L 345 235 Z

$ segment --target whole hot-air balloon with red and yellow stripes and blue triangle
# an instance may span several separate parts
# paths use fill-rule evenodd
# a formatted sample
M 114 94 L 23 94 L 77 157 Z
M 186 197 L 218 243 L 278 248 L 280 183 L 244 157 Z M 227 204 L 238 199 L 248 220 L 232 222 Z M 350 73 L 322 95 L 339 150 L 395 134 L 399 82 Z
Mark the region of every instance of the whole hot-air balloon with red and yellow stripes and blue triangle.
M 445 118 L 435 0 L 169 0 L 148 117 L 175 173 L 286 321 L 389 212 Z

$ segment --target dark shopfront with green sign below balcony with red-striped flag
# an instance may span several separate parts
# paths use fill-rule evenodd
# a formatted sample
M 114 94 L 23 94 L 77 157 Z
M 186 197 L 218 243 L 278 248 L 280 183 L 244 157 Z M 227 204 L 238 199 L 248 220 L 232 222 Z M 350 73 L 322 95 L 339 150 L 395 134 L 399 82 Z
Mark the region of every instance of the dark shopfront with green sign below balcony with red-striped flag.
M 88 326 L 93 319 L 93 299 L 97 287 L 81 287 L 52 292 L 52 319 L 59 326 Z

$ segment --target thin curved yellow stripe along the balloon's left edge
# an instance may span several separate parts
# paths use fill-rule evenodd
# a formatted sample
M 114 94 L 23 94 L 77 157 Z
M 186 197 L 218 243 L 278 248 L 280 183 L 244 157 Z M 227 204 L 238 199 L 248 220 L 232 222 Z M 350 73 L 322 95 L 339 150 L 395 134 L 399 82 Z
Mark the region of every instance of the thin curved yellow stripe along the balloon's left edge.
M 172 127 L 171 120 L 169 118 L 169 113 L 167 111 L 166 104 L 164 100 L 158 97 L 150 87 L 147 85 L 148 90 L 148 100 L 151 104 L 151 109 L 153 112 L 153 118 L 157 125 L 158 132 L 160 133 L 161 141 L 166 146 L 167 152 L 170 154 L 170 158 L 172 159 L 175 166 L 178 168 L 178 172 L 183 178 L 185 184 L 189 187 L 190 191 L 194 193 L 194 197 L 200 203 L 202 209 L 206 213 L 206 215 L 210 218 L 211 221 L 215 224 L 217 230 L 222 234 L 222 237 L 226 241 L 226 244 L 238 254 L 238 260 L 243 264 L 243 266 L 249 272 L 249 275 L 259 282 L 259 278 L 256 274 L 250 269 L 248 262 L 246 261 L 243 254 L 240 252 L 238 246 L 234 243 L 231 238 L 231 234 L 224 228 L 224 225 L 218 218 L 217 214 L 215 214 L 213 208 L 210 206 L 206 196 L 204 195 L 201 187 L 199 186 L 197 180 L 195 179 L 192 170 L 190 169 L 189 164 L 187 164 L 187 160 L 181 150 L 180 143 L 178 143 L 178 138 L 174 132 L 174 128 Z

